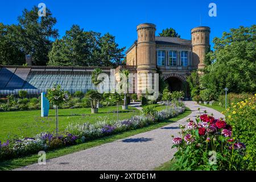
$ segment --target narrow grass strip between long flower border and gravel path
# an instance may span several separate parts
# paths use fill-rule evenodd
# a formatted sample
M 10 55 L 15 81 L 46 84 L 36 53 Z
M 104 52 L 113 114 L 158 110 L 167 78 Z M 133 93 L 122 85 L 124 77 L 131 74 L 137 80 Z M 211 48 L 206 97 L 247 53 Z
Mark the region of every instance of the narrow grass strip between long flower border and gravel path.
M 186 108 L 184 113 L 179 114 L 174 118 L 167 119 L 166 121 L 155 123 L 154 125 L 143 127 L 141 129 L 137 129 L 137 130 L 125 131 L 123 133 L 119 133 L 119 134 L 111 135 L 109 137 L 92 140 L 90 142 L 86 142 L 86 143 L 82 143 L 82 144 L 77 144 L 75 146 L 60 148 L 55 151 L 48 151 L 46 153 L 47 160 L 52 159 L 52 158 L 57 158 L 59 156 L 71 154 L 73 152 L 86 150 L 91 147 L 100 146 L 101 144 L 114 142 L 115 140 L 131 137 L 131 136 L 139 134 L 139 133 L 144 133 L 144 132 L 147 132 L 150 130 L 158 129 L 159 127 L 166 126 L 172 122 L 179 121 L 180 119 L 187 117 L 189 114 L 191 114 L 191 110 Z M 15 169 L 18 167 L 28 166 L 29 164 L 34 164 L 36 162 L 38 162 L 38 155 L 31 155 L 31 156 L 27 156 L 24 158 L 6 160 L 5 162 L 0 162 L 0 170 L 11 170 L 11 169 Z

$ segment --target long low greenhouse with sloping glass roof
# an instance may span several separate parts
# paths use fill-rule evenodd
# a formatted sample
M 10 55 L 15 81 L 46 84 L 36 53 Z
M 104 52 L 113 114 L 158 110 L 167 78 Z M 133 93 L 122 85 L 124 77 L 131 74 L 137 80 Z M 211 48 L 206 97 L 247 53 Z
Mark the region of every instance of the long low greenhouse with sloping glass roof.
M 1 67 L 0 97 L 9 94 L 18 95 L 19 90 L 26 90 L 28 96 L 38 96 L 54 84 L 69 93 L 81 91 L 86 93 L 96 89 L 92 84 L 92 71 L 96 67 Z M 110 74 L 110 67 L 101 67 L 104 73 Z

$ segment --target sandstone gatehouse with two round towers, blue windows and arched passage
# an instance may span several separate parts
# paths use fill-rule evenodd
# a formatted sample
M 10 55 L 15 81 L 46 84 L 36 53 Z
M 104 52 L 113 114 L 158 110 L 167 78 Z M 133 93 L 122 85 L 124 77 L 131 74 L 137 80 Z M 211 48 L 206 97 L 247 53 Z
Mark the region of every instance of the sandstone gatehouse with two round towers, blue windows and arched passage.
M 193 28 L 191 40 L 155 36 L 155 31 L 156 26 L 152 23 L 137 26 L 138 39 L 126 51 L 126 64 L 136 68 L 138 74 L 160 72 L 170 90 L 184 90 L 186 77 L 193 70 L 205 67 L 210 28 Z M 139 92 L 143 90 L 142 83 L 143 80 L 138 80 Z

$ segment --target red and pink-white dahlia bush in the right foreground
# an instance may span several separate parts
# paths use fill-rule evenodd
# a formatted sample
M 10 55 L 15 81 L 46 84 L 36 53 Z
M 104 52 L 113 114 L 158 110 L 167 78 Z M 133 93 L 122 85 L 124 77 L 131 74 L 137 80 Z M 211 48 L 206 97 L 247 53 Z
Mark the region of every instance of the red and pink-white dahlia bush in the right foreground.
M 245 144 L 232 138 L 232 126 L 223 119 L 203 114 L 196 121 L 188 119 L 187 130 L 180 128 L 180 137 L 172 136 L 177 170 L 243 169 Z

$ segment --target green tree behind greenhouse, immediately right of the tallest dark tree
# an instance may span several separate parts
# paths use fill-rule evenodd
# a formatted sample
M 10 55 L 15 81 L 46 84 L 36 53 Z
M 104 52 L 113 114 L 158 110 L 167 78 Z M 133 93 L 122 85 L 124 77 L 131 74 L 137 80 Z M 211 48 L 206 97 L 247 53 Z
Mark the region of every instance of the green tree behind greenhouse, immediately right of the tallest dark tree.
M 73 24 L 61 39 L 57 39 L 49 52 L 48 65 L 90 66 L 92 53 L 97 47 L 100 34 L 85 32 L 80 26 Z

